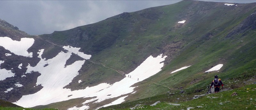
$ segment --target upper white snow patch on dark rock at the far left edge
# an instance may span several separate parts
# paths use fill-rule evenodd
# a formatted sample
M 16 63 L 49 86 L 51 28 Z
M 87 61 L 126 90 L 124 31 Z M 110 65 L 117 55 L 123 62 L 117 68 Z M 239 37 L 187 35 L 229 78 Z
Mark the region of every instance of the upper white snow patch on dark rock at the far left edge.
M 32 57 L 32 52 L 28 53 L 28 48 L 34 44 L 33 38 L 21 38 L 20 41 L 12 40 L 9 37 L 0 37 L 0 46 L 16 55 Z

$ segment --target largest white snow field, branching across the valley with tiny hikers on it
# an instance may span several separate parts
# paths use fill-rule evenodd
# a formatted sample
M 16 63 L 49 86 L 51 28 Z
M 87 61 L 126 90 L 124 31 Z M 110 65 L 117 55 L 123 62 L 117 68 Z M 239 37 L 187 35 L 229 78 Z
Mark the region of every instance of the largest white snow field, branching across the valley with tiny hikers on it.
M 140 66 L 128 74 L 129 76 L 132 76 L 131 78 L 125 77 L 121 81 L 111 85 L 102 83 L 96 86 L 86 87 L 82 90 L 71 91 L 70 89 L 63 87 L 68 85 L 72 79 L 78 75 L 77 71 L 80 70 L 85 61 L 76 61 L 66 67 L 65 63 L 71 56 L 71 53 L 77 52 L 77 50 L 71 50 L 71 52 L 68 51 L 68 53 L 60 52 L 57 56 L 52 59 L 48 59 L 47 61 L 41 59 L 41 61 L 35 67 L 28 66 L 27 72 L 38 71 L 41 73 L 41 76 L 37 78 L 36 84 L 41 84 L 43 88 L 35 94 L 22 96 L 22 98 L 14 104 L 22 105 L 23 107 L 33 107 L 81 97 L 96 97 L 86 100 L 84 103 L 82 103 L 82 107 L 77 108 L 74 106 L 69 108 L 69 110 L 89 109 L 89 105 L 87 104 L 89 102 L 99 103 L 106 99 L 116 98 L 124 94 L 132 93 L 135 87 L 131 86 L 138 82 L 137 79 L 139 78 L 140 81 L 142 81 L 161 71 L 161 68 L 164 66 L 163 61 L 167 57 L 162 57 L 162 54 L 155 58 L 153 56 L 149 56 L 143 63 L 140 64 Z M 49 64 L 49 66 L 44 67 L 45 64 Z M 119 98 L 112 102 L 112 104 L 122 103 L 124 98 L 125 97 Z M 111 105 L 111 103 L 109 105 Z

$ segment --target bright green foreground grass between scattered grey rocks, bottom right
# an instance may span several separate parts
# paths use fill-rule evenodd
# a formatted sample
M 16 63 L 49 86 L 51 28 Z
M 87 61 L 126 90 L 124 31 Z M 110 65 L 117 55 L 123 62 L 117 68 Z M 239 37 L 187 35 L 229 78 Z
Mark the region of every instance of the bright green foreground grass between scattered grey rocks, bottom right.
M 141 106 L 136 107 L 135 110 L 155 110 L 155 109 L 163 109 L 163 110 L 180 110 L 180 109 L 187 109 L 188 107 L 194 107 L 196 110 L 205 110 L 205 109 L 225 109 L 225 110 L 252 110 L 255 109 L 256 106 L 256 84 L 249 84 L 245 85 L 240 88 L 223 91 L 219 93 L 213 93 L 208 94 L 202 97 L 199 97 L 198 99 L 191 99 L 193 96 L 189 96 L 189 101 L 180 101 L 182 100 L 182 95 L 178 94 L 180 99 L 176 99 L 177 95 L 173 96 L 157 96 L 159 99 L 167 99 L 160 101 L 161 103 L 157 104 L 156 106 L 150 106 L 152 103 L 155 103 L 157 100 L 155 97 L 143 99 L 134 101 L 127 104 L 120 104 L 115 106 L 109 106 L 106 108 L 103 108 L 101 110 L 107 110 L 107 109 L 115 109 L 115 110 L 128 110 L 130 107 L 134 107 L 136 104 L 139 104 Z M 233 92 L 237 93 L 237 96 L 231 96 Z M 186 94 L 183 94 L 183 96 L 187 96 Z M 170 99 L 172 97 L 173 101 Z M 252 99 L 251 99 L 252 98 Z M 176 102 L 178 101 L 178 102 Z M 174 106 L 170 105 L 172 104 L 180 104 L 180 106 Z M 197 106 L 202 106 L 197 108 Z M 124 108 L 122 108 L 124 107 Z M 128 108 L 127 108 L 128 107 Z

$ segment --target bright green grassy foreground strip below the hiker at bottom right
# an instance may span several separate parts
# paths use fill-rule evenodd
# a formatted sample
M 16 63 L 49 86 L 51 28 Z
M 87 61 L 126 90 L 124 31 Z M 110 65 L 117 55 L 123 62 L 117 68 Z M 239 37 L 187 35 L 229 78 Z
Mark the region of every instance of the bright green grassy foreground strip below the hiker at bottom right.
M 235 96 L 231 96 L 234 92 Z M 170 103 L 161 102 L 156 106 L 142 104 L 136 106 L 133 110 L 187 110 L 188 107 L 192 110 L 253 110 L 256 109 L 256 84 L 246 85 L 233 90 L 213 93 L 192 99 L 190 101 Z M 111 107 L 102 110 L 109 110 Z M 130 110 L 131 108 L 115 108 L 115 110 Z

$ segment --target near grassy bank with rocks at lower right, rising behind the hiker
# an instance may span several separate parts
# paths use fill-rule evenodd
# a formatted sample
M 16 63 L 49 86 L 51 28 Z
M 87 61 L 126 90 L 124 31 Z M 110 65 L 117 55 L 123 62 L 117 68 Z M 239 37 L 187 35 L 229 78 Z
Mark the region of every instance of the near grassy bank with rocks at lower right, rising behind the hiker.
M 162 94 L 154 97 L 140 99 L 132 102 L 127 102 L 123 104 L 118 104 L 114 106 L 108 106 L 102 108 L 102 110 L 115 109 L 115 110 L 128 110 L 130 107 L 134 107 L 137 104 L 141 105 L 136 107 L 135 110 L 155 110 L 155 109 L 164 109 L 164 110 L 180 110 L 187 109 L 187 107 L 195 107 L 198 110 L 205 109 L 227 109 L 227 110 L 242 110 L 242 109 L 254 109 L 256 106 L 256 84 L 252 84 L 256 81 L 256 69 L 247 70 L 241 75 L 234 76 L 228 80 L 223 80 L 225 84 L 225 89 L 220 90 L 219 93 L 209 94 L 202 96 L 198 99 L 192 99 L 194 95 L 203 95 L 207 92 L 207 89 L 204 87 L 201 92 L 195 93 L 179 93 L 180 90 L 170 92 L 172 95 Z M 237 93 L 237 96 L 231 96 L 233 92 Z M 217 98 L 209 98 L 217 97 Z M 179 98 L 179 99 L 178 99 Z M 251 100 L 252 98 L 252 100 Z M 156 106 L 150 106 L 156 101 L 160 101 L 160 104 Z M 180 104 L 180 106 L 173 106 L 172 104 Z M 223 105 L 220 105 L 223 103 Z M 202 108 L 197 108 L 197 106 L 203 106 Z

